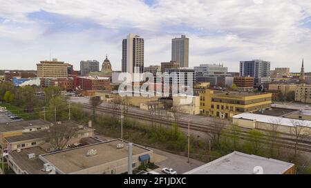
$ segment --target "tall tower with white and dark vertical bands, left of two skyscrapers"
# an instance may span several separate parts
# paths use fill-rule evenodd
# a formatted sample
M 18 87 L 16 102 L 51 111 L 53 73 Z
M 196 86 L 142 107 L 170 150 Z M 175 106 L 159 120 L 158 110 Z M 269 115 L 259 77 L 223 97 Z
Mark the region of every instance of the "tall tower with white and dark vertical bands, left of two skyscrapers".
M 122 41 L 122 72 L 144 72 L 144 39 L 136 34 Z

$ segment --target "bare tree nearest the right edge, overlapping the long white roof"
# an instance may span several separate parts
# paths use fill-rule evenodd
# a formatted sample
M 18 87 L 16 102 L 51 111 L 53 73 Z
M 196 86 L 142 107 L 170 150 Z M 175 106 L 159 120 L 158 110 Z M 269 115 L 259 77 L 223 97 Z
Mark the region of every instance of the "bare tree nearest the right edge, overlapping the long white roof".
M 294 138 L 294 163 L 296 163 L 298 145 L 303 138 L 308 136 L 305 130 L 308 126 L 310 126 L 310 124 L 305 121 L 295 119 L 291 119 L 290 122 L 292 123 L 292 127 L 290 127 L 290 133 Z

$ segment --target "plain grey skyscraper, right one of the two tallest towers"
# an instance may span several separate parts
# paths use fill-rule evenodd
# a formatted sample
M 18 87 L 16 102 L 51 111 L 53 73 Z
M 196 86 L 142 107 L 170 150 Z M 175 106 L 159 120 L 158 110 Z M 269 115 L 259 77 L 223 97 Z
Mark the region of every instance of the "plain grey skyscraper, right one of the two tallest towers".
M 172 39 L 171 61 L 178 61 L 180 67 L 189 67 L 189 39 L 185 35 Z

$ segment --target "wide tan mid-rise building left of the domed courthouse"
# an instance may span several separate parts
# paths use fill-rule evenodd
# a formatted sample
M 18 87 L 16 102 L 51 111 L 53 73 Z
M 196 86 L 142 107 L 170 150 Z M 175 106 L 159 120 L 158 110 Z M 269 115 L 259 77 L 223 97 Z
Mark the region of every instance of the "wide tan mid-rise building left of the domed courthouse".
M 68 64 L 64 61 L 40 61 L 37 64 L 37 76 L 39 78 L 67 78 Z

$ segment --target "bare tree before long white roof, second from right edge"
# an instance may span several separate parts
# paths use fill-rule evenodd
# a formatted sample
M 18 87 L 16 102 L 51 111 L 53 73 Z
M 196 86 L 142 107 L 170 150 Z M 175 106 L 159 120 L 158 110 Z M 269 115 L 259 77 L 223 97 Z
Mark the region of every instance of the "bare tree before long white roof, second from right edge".
M 270 157 L 274 158 L 276 157 L 274 155 L 275 150 L 277 149 L 278 154 L 277 156 L 279 157 L 279 147 L 276 148 L 276 142 L 279 139 L 279 132 L 278 129 L 282 125 L 282 118 L 272 118 L 269 119 L 269 131 L 267 133 L 269 143 L 270 143 Z

